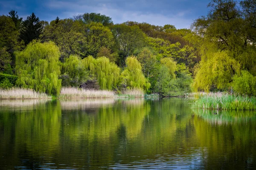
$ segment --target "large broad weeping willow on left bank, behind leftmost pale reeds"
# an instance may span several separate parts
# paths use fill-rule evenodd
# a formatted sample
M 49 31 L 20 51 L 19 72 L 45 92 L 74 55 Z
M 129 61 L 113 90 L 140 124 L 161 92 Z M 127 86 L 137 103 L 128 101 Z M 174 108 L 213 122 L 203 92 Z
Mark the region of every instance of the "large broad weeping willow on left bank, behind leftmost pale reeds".
M 33 41 L 16 54 L 16 84 L 23 88 L 58 95 L 61 90 L 60 51 L 53 42 Z

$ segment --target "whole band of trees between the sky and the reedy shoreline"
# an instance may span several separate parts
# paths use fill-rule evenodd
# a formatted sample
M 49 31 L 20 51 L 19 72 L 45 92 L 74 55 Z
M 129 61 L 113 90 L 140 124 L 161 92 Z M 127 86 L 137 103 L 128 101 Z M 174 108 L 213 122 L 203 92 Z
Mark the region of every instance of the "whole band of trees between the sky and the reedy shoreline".
M 93 80 L 101 89 L 164 96 L 230 89 L 255 95 L 256 1 L 211 0 L 208 8 L 191 29 L 113 24 L 97 13 L 23 20 L 12 10 L 0 16 L 0 70 L 17 75 L 15 85 L 48 94 Z

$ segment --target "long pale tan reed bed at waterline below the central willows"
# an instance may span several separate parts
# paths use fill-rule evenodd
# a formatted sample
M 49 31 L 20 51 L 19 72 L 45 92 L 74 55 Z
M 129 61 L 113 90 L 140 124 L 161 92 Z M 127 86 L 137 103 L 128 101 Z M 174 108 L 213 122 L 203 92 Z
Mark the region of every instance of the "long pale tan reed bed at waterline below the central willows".
M 61 94 L 59 98 L 64 99 L 76 99 L 76 98 L 114 98 L 115 93 L 113 91 L 106 90 L 91 90 L 81 88 L 61 88 Z

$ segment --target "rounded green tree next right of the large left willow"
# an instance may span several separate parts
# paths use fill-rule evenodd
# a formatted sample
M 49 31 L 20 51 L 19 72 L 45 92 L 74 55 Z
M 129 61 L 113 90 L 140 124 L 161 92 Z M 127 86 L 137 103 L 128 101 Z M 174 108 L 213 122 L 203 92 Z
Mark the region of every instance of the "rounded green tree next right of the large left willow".
M 81 58 L 77 55 L 71 55 L 64 60 L 62 64 L 62 86 L 79 87 L 87 81 L 88 71 L 82 65 Z

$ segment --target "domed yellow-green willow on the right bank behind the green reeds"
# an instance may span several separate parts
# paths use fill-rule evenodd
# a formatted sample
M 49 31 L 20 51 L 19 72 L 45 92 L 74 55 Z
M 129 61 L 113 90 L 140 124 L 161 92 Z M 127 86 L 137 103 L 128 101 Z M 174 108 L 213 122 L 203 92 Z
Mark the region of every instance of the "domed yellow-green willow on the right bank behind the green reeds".
M 240 64 L 226 51 L 212 52 L 202 57 L 195 68 L 193 87 L 196 91 L 225 90 L 232 77 L 240 72 Z

